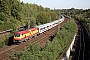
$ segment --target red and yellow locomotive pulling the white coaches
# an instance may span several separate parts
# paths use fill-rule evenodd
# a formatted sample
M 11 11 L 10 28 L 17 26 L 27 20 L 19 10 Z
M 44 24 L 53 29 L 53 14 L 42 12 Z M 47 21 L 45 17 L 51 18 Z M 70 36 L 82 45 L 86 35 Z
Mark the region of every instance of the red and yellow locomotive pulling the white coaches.
M 20 32 L 15 32 L 14 33 L 14 42 L 25 41 L 26 39 L 29 39 L 37 34 L 38 34 L 38 28 L 31 28 L 28 30 L 20 31 Z

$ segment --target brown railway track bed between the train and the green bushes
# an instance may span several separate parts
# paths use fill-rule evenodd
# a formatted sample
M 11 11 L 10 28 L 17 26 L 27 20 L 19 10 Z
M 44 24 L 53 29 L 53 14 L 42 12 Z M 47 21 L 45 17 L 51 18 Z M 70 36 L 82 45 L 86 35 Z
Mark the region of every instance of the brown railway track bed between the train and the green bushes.
M 64 20 L 64 22 L 62 22 L 60 24 L 60 27 L 62 27 L 64 25 L 64 23 L 67 22 L 67 19 Z M 40 47 L 42 47 L 50 38 L 52 38 L 55 33 L 57 32 L 58 26 L 52 28 L 49 31 L 46 31 L 43 34 L 40 34 L 39 36 L 32 38 L 31 40 L 28 40 L 27 42 L 23 42 L 19 45 L 11 45 L 11 46 L 7 46 L 5 48 L 0 49 L 0 60 L 6 60 L 8 58 L 7 54 L 11 53 L 11 50 L 16 50 L 16 51 L 20 51 L 25 47 L 28 47 L 28 44 L 34 43 L 34 42 L 38 42 L 40 43 Z

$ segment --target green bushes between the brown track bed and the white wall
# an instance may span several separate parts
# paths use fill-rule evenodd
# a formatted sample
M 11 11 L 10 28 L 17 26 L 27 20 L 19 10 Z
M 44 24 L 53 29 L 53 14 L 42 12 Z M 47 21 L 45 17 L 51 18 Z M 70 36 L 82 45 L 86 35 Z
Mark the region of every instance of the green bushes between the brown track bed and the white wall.
M 72 41 L 75 32 L 76 25 L 72 19 L 42 49 L 38 43 L 30 43 L 28 49 L 25 48 L 23 51 L 15 53 L 14 56 L 11 54 L 11 56 L 18 58 L 18 60 L 57 60 Z

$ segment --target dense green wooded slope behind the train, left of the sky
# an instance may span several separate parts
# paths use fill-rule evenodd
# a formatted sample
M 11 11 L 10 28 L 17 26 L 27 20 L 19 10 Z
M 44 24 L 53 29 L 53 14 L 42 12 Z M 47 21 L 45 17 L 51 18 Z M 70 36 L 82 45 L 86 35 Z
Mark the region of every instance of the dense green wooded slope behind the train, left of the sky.
M 14 29 L 27 25 L 28 18 L 33 24 L 44 24 L 55 20 L 57 14 L 51 12 L 49 8 L 41 5 L 20 2 L 20 0 L 0 0 L 0 31 Z M 52 13 L 52 14 L 50 14 Z M 34 22 L 34 20 L 36 22 Z

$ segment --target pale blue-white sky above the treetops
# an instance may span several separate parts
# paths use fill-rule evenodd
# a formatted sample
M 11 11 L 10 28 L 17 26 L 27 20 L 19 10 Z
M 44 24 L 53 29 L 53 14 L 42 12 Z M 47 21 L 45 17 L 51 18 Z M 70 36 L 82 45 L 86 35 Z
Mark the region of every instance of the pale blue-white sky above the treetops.
M 20 0 L 50 9 L 90 9 L 90 0 Z

